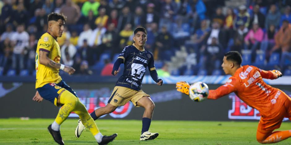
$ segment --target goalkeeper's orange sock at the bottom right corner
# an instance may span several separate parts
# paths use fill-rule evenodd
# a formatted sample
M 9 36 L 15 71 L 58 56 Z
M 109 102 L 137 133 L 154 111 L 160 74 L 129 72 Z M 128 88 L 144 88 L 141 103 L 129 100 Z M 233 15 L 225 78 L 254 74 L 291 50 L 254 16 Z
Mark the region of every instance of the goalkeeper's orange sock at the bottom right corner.
M 291 137 L 291 130 L 288 131 L 275 131 L 267 137 L 262 143 L 277 143 L 282 140 L 288 139 Z

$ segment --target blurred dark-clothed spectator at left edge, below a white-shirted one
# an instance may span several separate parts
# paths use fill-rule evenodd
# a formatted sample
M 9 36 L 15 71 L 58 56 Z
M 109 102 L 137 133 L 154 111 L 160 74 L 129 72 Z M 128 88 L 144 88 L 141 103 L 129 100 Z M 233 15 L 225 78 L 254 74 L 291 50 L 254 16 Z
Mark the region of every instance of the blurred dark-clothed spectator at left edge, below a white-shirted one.
M 6 38 L 1 44 L 1 48 L 3 49 L 3 57 L 0 60 L 0 68 L 3 68 L 3 74 L 6 74 L 9 64 L 12 61 L 12 46 L 9 38 Z M 0 57 L 1 58 L 1 57 Z

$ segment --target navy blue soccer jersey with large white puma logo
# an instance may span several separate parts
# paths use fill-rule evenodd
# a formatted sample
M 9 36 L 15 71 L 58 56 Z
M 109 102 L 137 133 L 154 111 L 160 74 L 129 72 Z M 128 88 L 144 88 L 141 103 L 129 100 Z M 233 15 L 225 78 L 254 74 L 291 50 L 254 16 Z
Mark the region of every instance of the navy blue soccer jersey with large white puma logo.
M 126 46 L 118 58 L 124 60 L 123 75 L 119 77 L 115 86 L 141 90 L 141 82 L 145 75 L 146 67 L 154 70 L 154 56 L 151 52 L 140 51 L 133 45 Z

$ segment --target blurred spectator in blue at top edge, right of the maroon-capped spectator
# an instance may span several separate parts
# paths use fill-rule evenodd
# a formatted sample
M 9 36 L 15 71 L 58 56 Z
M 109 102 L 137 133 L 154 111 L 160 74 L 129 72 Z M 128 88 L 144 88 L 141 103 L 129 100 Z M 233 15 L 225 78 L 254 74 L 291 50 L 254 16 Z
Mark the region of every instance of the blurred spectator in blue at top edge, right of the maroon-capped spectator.
M 159 28 L 164 26 L 167 27 L 167 30 L 172 30 L 172 21 L 173 16 L 175 15 L 175 2 L 172 0 L 165 0 L 161 7 L 160 23 Z

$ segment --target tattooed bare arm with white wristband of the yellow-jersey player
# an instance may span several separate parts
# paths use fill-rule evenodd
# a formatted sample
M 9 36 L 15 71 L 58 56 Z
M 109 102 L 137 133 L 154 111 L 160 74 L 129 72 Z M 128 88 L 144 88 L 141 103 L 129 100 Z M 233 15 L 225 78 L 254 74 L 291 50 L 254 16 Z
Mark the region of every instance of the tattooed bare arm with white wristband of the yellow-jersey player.
M 49 52 L 39 51 L 39 63 L 42 65 L 46 65 L 50 68 L 62 69 L 61 68 L 62 64 L 54 62 L 48 56 L 49 56 Z M 71 75 L 75 73 L 76 70 L 70 66 L 64 66 L 63 71 Z

